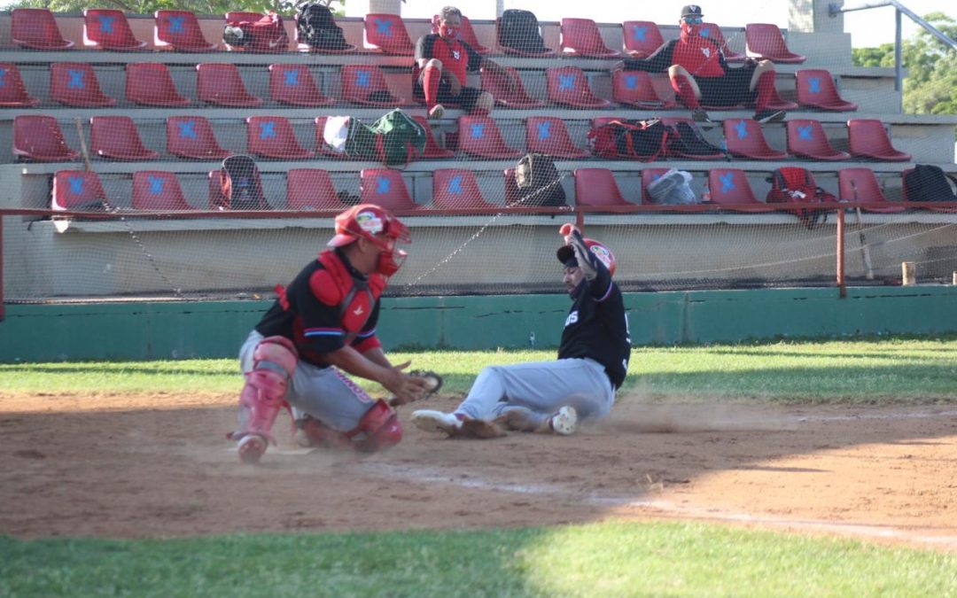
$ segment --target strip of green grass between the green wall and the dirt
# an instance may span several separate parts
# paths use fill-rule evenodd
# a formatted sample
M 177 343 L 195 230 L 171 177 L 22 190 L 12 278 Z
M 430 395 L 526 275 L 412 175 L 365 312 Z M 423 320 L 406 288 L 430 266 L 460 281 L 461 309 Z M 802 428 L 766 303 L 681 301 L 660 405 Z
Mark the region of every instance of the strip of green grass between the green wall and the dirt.
M 392 353 L 464 394 L 484 365 L 554 359 L 554 350 Z M 0 365 L 14 392 L 237 392 L 235 360 Z M 381 390 L 367 384 L 373 393 Z M 638 347 L 626 389 L 647 400 L 878 403 L 957 398 L 954 338 Z

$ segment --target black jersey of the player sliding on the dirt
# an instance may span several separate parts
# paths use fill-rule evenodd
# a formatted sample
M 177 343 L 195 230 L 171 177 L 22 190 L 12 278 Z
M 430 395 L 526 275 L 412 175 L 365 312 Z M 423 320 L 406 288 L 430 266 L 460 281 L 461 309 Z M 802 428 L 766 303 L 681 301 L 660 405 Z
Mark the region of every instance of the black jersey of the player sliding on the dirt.
M 593 280 L 582 280 L 572 300 L 558 359 L 593 359 L 605 366 L 612 386 L 621 387 L 632 353 L 632 337 L 618 285 L 601 266 Z

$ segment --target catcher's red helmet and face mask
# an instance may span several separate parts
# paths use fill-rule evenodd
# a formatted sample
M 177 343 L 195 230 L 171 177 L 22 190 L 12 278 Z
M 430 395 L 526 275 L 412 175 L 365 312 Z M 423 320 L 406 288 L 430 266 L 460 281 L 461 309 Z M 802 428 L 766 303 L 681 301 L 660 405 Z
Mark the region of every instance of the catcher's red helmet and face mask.
M 406 252 L 396 249 L 395 244 L 412 243 L 412 236 L 406 225 L 375 204 L 359 204 L 336 216 L 336 235 L 329 240 L 329 247 L 345 247 L 359 237 L 371 241 L 382 251 L 376 272 L 384 277 L 395 274 Z

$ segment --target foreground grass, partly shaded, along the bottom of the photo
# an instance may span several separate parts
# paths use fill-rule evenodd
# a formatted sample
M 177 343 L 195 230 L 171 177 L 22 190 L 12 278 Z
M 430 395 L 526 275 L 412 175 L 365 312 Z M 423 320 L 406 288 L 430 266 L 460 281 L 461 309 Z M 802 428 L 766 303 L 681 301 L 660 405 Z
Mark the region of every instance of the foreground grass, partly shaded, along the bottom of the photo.
M 16 596 L 954 596 L 957 555 L 619 522 L 159 541 L 0 538 Z

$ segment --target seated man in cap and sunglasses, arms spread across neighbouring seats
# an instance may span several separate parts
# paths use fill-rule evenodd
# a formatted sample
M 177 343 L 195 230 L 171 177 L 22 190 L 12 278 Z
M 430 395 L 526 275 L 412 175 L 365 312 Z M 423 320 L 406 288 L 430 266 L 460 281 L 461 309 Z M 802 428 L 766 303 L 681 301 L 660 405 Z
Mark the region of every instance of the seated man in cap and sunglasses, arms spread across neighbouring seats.
M 730 68 L 724 60 L 721 44 L 701 36 L 704 23 L 701 7 L 688 5 L 681 9 L 679 39 L 667 41 L 647 58 L 627 58 L 626 71 L 668 72 L 671 86 L 679 100 L 691 109 L 695 121 L 709 121 L 701 104 L 735 106 L 751 103 L 757 107 L 754 120 L 780 121 L 784 112 L 768 108 L 777 98 L 774 89 L 774 64 L 748 59 L 745 66 Z

